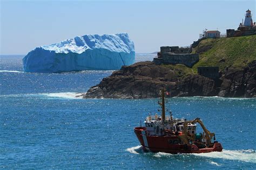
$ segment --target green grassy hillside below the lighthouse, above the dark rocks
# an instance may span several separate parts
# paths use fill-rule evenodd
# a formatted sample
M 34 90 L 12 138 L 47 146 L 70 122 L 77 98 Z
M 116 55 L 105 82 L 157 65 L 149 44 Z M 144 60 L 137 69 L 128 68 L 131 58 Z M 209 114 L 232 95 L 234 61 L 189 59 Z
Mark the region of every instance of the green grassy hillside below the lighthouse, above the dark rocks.
M 219 66 L 220 70 L 242 68 L 256 60 L 256 35 L 205 39 L 193 48 L 192 53 L 199 53 L 199 62 L 192 68 L 194 73 L 199 66 Z

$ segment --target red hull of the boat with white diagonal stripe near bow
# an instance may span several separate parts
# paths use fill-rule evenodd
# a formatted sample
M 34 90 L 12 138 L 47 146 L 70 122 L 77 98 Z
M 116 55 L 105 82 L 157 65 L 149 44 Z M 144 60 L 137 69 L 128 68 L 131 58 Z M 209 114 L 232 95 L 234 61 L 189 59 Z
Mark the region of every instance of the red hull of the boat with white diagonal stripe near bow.
M 177 136 L 146 135 L 144 127 L 134 128 L 134 132 L 145 151 L 177 154 L 221 152 L 223 150 L 223 147 L 218 142 L 206 148 L 198 148 L 198 146 L 194 144 L 174 144 L 173 141 L 177 140 Z

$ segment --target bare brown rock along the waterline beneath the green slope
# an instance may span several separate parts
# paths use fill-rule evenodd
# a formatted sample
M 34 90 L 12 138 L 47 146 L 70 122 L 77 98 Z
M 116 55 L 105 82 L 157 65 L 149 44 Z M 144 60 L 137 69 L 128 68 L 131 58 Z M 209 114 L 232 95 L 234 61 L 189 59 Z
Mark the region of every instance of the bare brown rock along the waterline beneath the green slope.
M 83 98 L 156 98 L 161 87 L 171 97 L 256 97 L 256 60 L 242 69 L 227 68 L 220 79 L 155 65 L 151 61 L 123 66 L 91 87 Z

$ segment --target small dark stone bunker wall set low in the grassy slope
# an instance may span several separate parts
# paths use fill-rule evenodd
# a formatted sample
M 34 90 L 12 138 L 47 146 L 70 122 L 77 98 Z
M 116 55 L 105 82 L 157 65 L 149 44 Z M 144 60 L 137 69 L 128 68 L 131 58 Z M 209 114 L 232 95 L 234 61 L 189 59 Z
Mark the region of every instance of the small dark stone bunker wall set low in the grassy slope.
M 219 79 L 219 67 L 198 67 L 198 74 L 211 79 Z

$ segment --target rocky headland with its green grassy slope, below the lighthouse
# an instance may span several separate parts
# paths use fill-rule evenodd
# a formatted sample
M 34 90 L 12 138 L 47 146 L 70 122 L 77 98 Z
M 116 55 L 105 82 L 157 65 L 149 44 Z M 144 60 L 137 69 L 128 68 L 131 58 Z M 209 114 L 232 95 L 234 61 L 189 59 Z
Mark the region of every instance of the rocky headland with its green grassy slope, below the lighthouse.
M 154 65 L 139 62 L 106 77 L 90 88 L 84 98 L 158 97 L 161 87 L 171 96 L 256 97 L 256 35 L 203 39 L 192 45 L 199 61 L 184 65 Z M 218 66 L 219 79 L 196 74 L 197 68 Z

